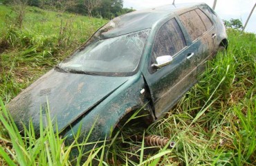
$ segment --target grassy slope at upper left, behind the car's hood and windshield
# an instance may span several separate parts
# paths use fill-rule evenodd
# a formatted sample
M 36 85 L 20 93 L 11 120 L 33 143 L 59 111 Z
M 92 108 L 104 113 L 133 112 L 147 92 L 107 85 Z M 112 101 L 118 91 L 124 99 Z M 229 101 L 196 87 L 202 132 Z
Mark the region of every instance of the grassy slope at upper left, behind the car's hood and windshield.
M 0 97 L 8 102 L 21 89 L 69 55 L 107 20 L 26 8 L 22 28 L 11 6 L 0 6 Z

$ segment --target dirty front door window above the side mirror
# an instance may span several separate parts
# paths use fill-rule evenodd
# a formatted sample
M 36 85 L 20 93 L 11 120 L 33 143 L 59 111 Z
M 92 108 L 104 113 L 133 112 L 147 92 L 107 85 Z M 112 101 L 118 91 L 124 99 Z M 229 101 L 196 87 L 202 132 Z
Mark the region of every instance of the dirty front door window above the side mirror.
M 186 46 L 185 38 L 176 19 L 167 21 L 156 34 L 153 57 L 175 55 Z

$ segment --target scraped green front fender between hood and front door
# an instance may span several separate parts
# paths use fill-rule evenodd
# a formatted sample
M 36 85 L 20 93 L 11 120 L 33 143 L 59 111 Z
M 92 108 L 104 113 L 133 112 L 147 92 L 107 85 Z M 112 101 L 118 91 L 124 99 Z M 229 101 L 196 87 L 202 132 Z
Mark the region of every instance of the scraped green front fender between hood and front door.
M 111 131 L 122 117 L 132 111 L 134 107 L 142 108 L 149 102 L 145 97 L 146 92 L 140 93 L 142 89 L 145 89 L 143 75 L 142 73 L 137 73 L 98 104 L 97 107 L 89 111 L 80 122 L 71 127 L 64 134 L 66 142 L 68 144 L 73 142 L 73 134 L 77 133 L 80 127 L 81 135 L 78 142 L 82 142 L 88 136 L 91 127 L 93 127 L 93 131 L 89 136 L 89 142 L 109 137 Z

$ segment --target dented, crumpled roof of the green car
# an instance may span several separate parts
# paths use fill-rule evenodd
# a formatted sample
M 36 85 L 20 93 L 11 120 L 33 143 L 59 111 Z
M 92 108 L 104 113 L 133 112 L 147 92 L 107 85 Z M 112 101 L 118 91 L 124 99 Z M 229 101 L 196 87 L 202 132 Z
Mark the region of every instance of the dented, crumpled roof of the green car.
M 107 39 L 139 30 L 152 28 L 157 21 L 164 19 L 168 15 L 180 12 L 194 6 L 205 5 L 205 3 L 180 3 L 176 5 L 166 5 L 157 8 L 138 10 L 121 15 L 109 21 L 100 29 L 100 38 Z

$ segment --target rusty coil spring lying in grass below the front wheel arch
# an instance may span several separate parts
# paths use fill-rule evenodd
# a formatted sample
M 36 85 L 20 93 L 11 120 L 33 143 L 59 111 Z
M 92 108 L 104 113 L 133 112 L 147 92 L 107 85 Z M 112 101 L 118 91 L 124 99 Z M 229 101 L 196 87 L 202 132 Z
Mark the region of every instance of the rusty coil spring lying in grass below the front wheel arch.
M 159 146 L 159 147 L 165 147 L 167 143 L 170 141 L 169 138 L 166 137 L 160 137 L 160 136 L 146 136 L 145 142 L 149 146 Z M 170 142 L 169 148 L 173 148 L 175 145 L 175 142 Z

